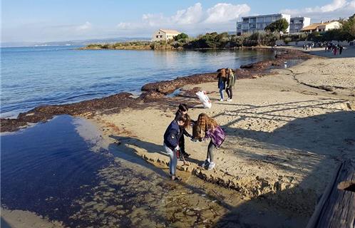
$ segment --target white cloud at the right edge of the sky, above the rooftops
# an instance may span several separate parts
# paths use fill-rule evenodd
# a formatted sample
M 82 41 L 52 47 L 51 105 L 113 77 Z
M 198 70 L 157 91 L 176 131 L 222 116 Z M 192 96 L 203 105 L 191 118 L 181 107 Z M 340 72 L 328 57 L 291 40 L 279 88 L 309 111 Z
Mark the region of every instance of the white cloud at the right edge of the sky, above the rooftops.
M 281 13 L 291 16 L 309 16 L 312 21 L 346 18 L 354 14 L 355 0 L 333 0 L 324 6 L 314 6 L 304 9 L 283 9 Z

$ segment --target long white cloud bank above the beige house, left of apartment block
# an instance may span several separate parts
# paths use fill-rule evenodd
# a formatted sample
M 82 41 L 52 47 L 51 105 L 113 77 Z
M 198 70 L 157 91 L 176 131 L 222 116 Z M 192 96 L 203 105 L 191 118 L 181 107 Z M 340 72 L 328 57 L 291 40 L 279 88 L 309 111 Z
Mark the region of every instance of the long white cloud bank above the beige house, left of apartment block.
M 121 32 L 140 31 L 151 33 L 157 28 L 171 28 L 187 33 L 204 33 L 207 31 L 233 31 L 237 18 L 247 14 L 247 4 L 219 3 L 210 9 L 203 9 L 196 3 L 187 9 L 180 9 L 171 16 L 164 14 L 143 14 L 140 22 L 120 22 L 116 28 Z

